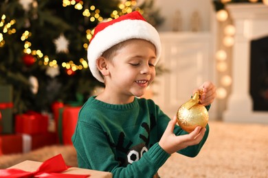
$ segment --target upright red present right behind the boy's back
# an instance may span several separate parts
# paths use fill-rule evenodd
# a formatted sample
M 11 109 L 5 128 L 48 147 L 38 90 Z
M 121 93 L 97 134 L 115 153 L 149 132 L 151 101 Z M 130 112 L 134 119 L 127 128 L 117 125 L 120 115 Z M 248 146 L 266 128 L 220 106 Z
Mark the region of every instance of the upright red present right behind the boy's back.
M 76 129 L 80 106 L 65 106 L 60 108 L 58 122 L 56 123 L 58 139 L 61 144 L 72 144 L 71 136 Z

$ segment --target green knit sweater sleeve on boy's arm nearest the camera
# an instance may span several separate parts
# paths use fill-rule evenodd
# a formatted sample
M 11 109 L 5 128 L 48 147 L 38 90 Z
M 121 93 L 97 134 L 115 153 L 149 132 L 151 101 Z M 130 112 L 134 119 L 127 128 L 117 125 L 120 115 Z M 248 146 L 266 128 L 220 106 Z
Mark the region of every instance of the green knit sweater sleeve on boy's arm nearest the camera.
M 88 127 L 91 129 L 87 129 Z M 113 177 L 153 177 L 170 157 L 170 154 L 155 143 L 137 162 L 122 167 L 115 160 L 115 153 L 104 131 L 81 121 L 76 127 L 73 142 L 80 159 L 79 167 L 108 171 Z

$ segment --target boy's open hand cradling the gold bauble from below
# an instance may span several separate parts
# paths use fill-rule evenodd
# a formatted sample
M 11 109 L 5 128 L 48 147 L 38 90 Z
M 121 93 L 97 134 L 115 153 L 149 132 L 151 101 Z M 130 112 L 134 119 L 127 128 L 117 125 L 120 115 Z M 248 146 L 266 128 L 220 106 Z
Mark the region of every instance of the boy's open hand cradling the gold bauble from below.
M 205 134 L 205 128 L 198 126 L 194 129 L 194 131 L 187 135 L 176 136 L 173 133 L 176 123 L 177 118 L 174 116 L 173 119 L 168 123 L 166 131 L 159 141 L 159 146 L 169 154 L 175 153 L 181 149 L 185 149 L 188 146 L 199 144 Z

